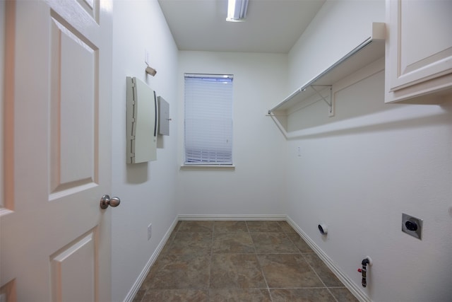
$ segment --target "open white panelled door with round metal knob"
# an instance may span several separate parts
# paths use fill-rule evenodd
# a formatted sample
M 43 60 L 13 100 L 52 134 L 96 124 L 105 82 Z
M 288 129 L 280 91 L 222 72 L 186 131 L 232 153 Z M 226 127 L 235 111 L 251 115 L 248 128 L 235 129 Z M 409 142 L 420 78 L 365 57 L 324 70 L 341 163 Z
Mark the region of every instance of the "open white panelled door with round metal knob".
M 110 301 L 111 2 L 0 5 L 1 301 Z

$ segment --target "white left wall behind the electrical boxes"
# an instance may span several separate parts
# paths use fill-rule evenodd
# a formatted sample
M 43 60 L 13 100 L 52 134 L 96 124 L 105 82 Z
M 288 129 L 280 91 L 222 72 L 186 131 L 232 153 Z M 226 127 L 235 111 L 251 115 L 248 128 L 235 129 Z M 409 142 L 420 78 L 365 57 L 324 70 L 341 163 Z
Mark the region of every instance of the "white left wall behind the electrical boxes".
M 177 218 L 177 127 L 158 137 L 157 161 L 126 164 L 126 76 L 148 83 L 177 120 L 177 47 L 156 0 L 113 3 L 112 297 L 123 301 Z M 155 77 L 145 74 L 145 48 Z M 148 224 L 153 237 L 148 241 Z

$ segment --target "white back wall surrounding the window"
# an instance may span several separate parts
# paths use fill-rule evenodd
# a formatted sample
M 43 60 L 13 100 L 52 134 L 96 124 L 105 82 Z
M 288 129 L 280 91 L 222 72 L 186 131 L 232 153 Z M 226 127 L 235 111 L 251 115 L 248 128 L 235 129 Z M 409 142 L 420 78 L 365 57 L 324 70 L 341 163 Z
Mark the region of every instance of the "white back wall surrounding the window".
M 184 73 L 234 74 L 236 168 L 179 170 L 179 214 L 285 214 L 285 142 L 266 113 L 287 90 L 287 55 L 179 52 L 179 165 L 184 162 Z

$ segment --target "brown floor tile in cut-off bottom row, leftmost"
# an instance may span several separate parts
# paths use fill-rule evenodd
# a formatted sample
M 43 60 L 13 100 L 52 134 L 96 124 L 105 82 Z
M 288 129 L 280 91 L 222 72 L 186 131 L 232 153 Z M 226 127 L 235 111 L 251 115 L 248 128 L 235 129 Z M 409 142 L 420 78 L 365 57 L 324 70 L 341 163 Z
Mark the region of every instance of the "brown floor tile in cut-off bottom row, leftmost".
M 142 302 L 207 302 L 207 291 L 199 289 L 150 289 Z

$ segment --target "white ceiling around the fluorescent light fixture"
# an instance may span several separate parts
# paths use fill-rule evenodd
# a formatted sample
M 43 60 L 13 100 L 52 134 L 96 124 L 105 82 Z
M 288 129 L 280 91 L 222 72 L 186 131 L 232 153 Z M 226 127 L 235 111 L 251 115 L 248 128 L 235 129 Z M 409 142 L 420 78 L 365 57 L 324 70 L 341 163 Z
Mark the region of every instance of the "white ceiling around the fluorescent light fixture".
M 287 53 L 325 0 L 250 0 L 227 22 L 227 0 L 158 0 L 179 50 Z

